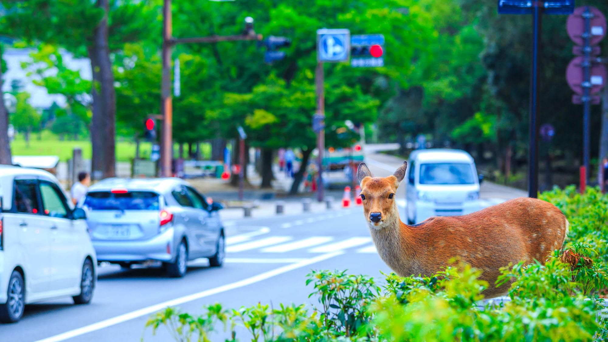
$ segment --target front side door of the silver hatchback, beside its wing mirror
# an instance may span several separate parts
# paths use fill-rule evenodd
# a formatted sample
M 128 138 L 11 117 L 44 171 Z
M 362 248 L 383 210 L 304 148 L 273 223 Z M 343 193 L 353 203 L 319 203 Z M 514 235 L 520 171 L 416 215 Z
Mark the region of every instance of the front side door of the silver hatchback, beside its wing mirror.
M 197 236 L 202 245 L 206 246 L 207 256 L 215 253 L 217 240 L 219 236 L 220 222 L 217 212 L 210 211 L 210 205 L 207 200 L 192 187 L 185 187 L 188 195 L 192 198 L 192 202 L 198 209 L 199 226 L 196 229 Z

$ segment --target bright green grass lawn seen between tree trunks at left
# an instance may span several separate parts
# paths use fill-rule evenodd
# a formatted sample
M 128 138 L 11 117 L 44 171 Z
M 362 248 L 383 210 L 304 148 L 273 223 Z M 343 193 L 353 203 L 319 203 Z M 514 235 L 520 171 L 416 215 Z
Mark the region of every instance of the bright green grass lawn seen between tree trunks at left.
M 72 158 L 72 150 L 75 147 L 82 149 L 84 159 L 91 159 L 91 141 L 89 140 L 63 140 L 49 131 L 43 131 L 39 139 L 38 133 L 30 134 L 29 147 L 23 139 L 22 134 L 15 137 L 10 144 L 10 148 L 14 156 L 59 156 L 61 161 L 67 161 Z M 150 157 L 152 144 L 150 142 L 141 142 L 139 144 L 140 158 Z M 202 156 L 209 158 L 211 155 L 211 145 L 201 144 Z M 184 146 L 184 153 L 187 153 L 187 146 Z M 174 155 L 178 155 L 178 147 L 175 145 Z M 127 141 L 125 138 L 116 139 L 116 161 L 131 161 L 135 158 L 135 142 Z

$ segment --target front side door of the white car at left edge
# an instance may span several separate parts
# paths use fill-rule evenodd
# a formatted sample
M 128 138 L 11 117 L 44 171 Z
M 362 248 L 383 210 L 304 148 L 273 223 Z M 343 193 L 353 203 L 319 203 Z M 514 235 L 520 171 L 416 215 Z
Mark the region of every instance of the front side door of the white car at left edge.
M 63 290 L 79 284 L 82 260 L 79 257 L 77 229 L 84 229 L 71 219 L 71 209 L 57 184 L 38 183 L 43 213 L 50 231 L 50 290 Z

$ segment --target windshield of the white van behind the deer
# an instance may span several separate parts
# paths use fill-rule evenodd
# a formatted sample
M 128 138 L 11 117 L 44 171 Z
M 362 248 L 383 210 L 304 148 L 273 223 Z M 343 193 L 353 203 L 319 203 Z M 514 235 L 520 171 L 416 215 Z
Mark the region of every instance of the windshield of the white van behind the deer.
M 475 184 L 471 164 L 442 162 L 420 164 L 420 184 Z

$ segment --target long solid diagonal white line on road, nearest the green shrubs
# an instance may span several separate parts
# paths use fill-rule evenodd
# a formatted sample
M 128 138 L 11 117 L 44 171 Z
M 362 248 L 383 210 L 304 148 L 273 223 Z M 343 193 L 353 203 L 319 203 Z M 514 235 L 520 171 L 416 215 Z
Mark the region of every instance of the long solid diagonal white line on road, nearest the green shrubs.
M 218 293 L 226 292 L 229 290 L 234 290 L 235 288 L 245 287 L 247 285 L 255 284 L 257 282 L 264 281 L 274 276 L 278 276 L 283 273 L 288 273 L 289 271 L 297 270 L 298 268 L 306 267 L 308 265 L 312 265 L 313 263 L 317 263 L 323 260 L 331 259 L 333 257 L 339 256 L 343 254 L 341 252 L 327 253 L 317 257 L 312 257 L 310 259 L 305 259 L 300 262 L 290 263 L 289 265 L 285 265 L 282 267 L 275 268 L 274 270 L 266 271 L 260 274 L 256 274 L 255 276 L 251 276 L 245 279 L 241 279 L 240 281 L 231 282 L 230 284 L 221 285 L 215 288 L 210 288 L 209 290 L 200 291 L 197 293 L 193 293 L 192 295 L 187 295 L 175 299 L 171 299 L 169 301 L 165 301 L 159 304 L 150 305 L 149 307 L 144 307 L 139 310 L 134 310 L 128 313 L 123 313 L 122 315 L 104 319 L 103 321 L 99 321 L 97 323 L 89 324 L 88 326 L 80 327 L 74 330 L 69 330 L 64 333 L 60 333 L 58 335 L 44 338 L 43 340 L 38 340 L 36 342 L 59 342 L 64 341 L 69 338 L 74 338 L 80 335 L 84 335 L 85 333 L 94 332 L 100 329 L 105 329 L 107 327 L 114 326 L 119 323 L 123 323 L 126 321 L 130 321 L 131 319 L 141 317 L 143 315 L 150 315 L 150 313 L 156 312 L 158 310 L 162 310 L 168 306 L 175 306 L 184 304 L 185 302 L 195 301 L 196 299 L 201 299 L 213 295 L 217 295 Z

